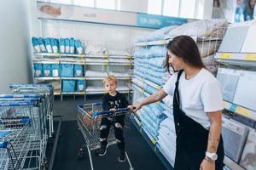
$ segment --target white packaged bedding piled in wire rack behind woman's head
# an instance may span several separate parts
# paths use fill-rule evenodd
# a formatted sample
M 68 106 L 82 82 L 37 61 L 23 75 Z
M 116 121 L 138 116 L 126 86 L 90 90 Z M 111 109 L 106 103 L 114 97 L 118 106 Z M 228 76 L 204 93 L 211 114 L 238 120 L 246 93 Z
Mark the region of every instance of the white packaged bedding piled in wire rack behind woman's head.
M 218 68 L 213 54 L 218 50 L 227 27 L 228 23 L 223 19 L 197 20 L 173 29 L 166 36 L 166 39 L 172 40 L 172 38 L 180 35 L 194 38 L 207 69 L 216 73 Z

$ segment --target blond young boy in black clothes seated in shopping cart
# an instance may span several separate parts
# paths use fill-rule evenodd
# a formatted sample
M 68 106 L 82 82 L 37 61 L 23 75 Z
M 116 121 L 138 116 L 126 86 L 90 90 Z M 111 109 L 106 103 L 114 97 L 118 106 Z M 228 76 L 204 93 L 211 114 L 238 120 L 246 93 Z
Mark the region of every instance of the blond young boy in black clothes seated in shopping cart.
M 125 99 L 125 96 L 116 91 L 117 83 L 116 77 L 113 76 L 105 77 L 103 80 L 104 87 L 108 92 L 108 94 L 104 94 L 102 97 L 103 111 L 116 111 L 119 108 L 126 108 L 128 106 L 128 101 Z M 119 161 L 125 161 L 125 139 L 123 136 L 125 115 L 102 118 L 100 127 L 101 148 L 99 150 L 99 155 L 104 156 L 107 153 L 108 133 L 111 125 L 113 125 L 115 138 L 120 151 Z

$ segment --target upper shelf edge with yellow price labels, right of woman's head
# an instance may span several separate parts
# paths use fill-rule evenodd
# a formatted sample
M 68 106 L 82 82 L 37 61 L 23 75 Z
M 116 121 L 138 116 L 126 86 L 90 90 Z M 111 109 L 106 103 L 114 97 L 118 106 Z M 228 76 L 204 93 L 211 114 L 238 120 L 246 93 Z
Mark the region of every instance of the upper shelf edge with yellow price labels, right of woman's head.
M 214 59 L 224 65 L 256 66 L 256 54 L 216 53 Z

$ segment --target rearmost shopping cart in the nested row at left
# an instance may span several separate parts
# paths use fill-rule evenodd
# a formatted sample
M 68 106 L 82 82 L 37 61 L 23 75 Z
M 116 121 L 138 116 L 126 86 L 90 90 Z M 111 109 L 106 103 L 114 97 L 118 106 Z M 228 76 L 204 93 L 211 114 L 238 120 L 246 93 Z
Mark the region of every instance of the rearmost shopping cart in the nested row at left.
M 10 84 L 15 94 L 40 94 L 45 99 L 44 109 L 49 121 L 49 138 L 54 134 L 53 128 L 53 103 L 54 87 L 52 84 Z

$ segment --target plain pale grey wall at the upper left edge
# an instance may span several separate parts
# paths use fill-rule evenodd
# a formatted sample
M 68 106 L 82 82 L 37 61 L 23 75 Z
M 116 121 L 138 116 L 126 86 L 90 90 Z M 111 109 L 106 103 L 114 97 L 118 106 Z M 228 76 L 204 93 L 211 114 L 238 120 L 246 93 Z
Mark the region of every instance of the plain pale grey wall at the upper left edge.
M 0 6 L 0 93 L 9 83 L 31 82 L 29 5 L 31 1 L 2 1 Z

